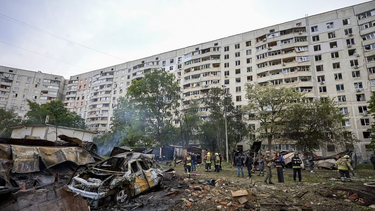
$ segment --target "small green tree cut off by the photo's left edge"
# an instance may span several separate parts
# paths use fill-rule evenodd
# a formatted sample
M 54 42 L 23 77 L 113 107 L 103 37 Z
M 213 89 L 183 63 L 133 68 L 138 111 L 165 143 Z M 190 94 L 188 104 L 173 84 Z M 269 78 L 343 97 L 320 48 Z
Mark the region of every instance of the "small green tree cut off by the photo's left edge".
M 10 138 L 12 130 L 8 127 L 12 127 L 19 123 L 15 109 L 17 108 L 0 108 L 0 137 Z

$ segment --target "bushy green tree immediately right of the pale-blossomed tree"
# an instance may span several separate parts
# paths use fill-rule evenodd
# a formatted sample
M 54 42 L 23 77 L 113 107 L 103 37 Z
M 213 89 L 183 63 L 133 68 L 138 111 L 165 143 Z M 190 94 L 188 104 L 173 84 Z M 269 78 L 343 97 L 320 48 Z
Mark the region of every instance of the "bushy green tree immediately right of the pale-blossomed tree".
M 341 113 L 338 103 L 332 98 L 294 104 L 286 113 L 282 138 L 288 143 L 296 143 L 303 152 L 320 149 L 327 143 L 342 146 L 344 150 L 356 142 L 342 127 L 348 115 Z

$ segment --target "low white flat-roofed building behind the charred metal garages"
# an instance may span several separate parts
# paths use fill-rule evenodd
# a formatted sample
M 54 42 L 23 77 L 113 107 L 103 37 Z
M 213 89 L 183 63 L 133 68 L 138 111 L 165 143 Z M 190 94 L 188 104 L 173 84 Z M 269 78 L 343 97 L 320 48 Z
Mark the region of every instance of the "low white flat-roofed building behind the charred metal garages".
M 30 125 L 16 125 L 12 128 L 12 138 L 22 139 L 25 136 L 39 137 L 39 139 L 57 142 L 58 135 L 67 135 L 75 137 L 82 141 L 92 142 L 95 132 L 90 130 L 82 130 L 78 128 L 62 127 L 52 124 L 30 124 Z

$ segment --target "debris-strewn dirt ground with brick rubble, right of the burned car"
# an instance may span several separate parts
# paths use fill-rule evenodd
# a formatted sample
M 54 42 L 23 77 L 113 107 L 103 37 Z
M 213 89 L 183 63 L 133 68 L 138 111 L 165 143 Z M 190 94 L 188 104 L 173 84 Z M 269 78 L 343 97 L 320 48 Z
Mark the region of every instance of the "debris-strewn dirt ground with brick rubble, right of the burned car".
M 368 206 L 359 205 L 348 200 L 349 194 L 352 194 L 346 188 L 363 188 L 363 181 L 340 182 L 339 173 L 332 170 L 316 169 L 316 173 L 310 173 L 307 170 L 302 171 L 302 182 L 293 182 L 293 170 L 284 170 L 284 183 L 278 183 L 276 169 L 273 169 L 272 181 L 275 185 L 266 185 L 263 183 L 265 176 L 257 176 L 258 172 L 252 173 L 251 179 L 248 179 L 246 167 L 244 167 L 245 177 L 237 177 L 237 168 L 229 165 L 223 165 L 220 173 L 205 173 L 204 167 L 196 168 L 190 179 L 185 179 L 183 165 L 174 166 L 162 165 L 163 169 L 173 168 L 177 176 L 172 181 L 165 181 L 165 187 L 148 191 L 141 196 L 131 199 L 126 205 L 105 204 L 96 210 L 132 210 L 137 204 L 147 200 L 143 205 L 133 209 L 136 211 L 151 210 L 242 210 L 243 205 L 235 207 L 236 201 L 231 196 L 231 190 L 237 191 L 246 189 L 252 193 L 255 200 L 252 202 L 252 210 L 297 210 L 297 211 L 357 211 L 357 210 L 375 210 Z M 374 170 L 371 170 L 371 164 L 357 165 L 355 171 L 361 179 L 367 179 L 366 182 L 374 182 Z M 353 178 L 353 176 L 352 176 Z M 199 183 L 199 180 L 220 179 L 215 187 Z M 336 179 L 336 180 L 333 180 Z M 372 180 L 372 181 L 371 181 Z M 189 187 L 178 188 L 179 184 L 187 184 Z M 202 191 L 194 190 L 194 187 L 205 188 Z M 336 188 L 336 189 L 335 189 Z M 186 189 L 188 191 L 186 191 Z M 170 197 L 165 196 L 172 191 L 184 191 L 182 194 Z M 307 193 L 305 193 L 308 191 Z M 303 193 L 302 197 L 299 198 Z M 261 195 L 262 194 L 262 195 Z M 333 194 L 333 195 L 332 195 Z M 329 197 L 327 197 L 329 196 Z M 150 198 L 151 197 L 151 198 Z M 191 200 L 191 205 L 188 200 Z M 184 201 L 185 200 L 185 201 Z M 219 202 L 231 203 L 232 206 L 221 206 Z M 283 205 L 275 205 L 283 204 Z M 287 204 L 287 205 L 285 205 Z M 188 207 L 190 205 L 190 207 Z M 237 203 L 238 205 L 238 203 Z M 246 209 L 245 209 L 246 210 Z M 251 209 L 247 209 L 251 210 Z

